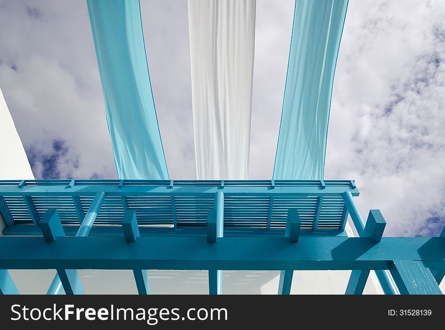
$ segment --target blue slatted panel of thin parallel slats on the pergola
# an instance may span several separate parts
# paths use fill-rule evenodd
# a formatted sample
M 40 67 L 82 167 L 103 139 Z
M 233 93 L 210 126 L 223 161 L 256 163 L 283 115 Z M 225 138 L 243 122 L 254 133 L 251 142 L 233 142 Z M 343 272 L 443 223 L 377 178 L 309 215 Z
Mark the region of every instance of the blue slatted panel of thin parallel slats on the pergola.
M 18 186 L 21 180 L 0 181 L 0 187 L 5 185 Z M 27 180 L 25 186 L 59 185 L 70 188 L 71 180 Z M 350 180 L 324 181 L 326 186 L 347 187 Z M 121 180 L 76 180 L 75 186 L 115 186 L 118 187 Z M 185 181 L 178 180 L 123 180 L 122 186 L 165 186 L 171 184 L 174 187 L 184 186 L 209 186 L 221 187 L 220 180 L 209 181 Z M 272 185 L 270 180 L 225 180 L 224 186 L 258 186 L 270 187 L 277 191 L 286 186 L 310 186 L 318 187 L 319 180 L 276 180 Z M 193 191 L 193 190 L 192 190 Z M 246 189 L 248 191 L 248 189 Z M 76 194 L 79 194 L 77 191 Z M 81 192 L 80 192 L 81 194 Z M 22 196 L 5 196 L 5 202 L 16 224 L 32 224 L 32 219 Z M 79 196 L 80 204 L 86 212 L 93 201 L 93 195 Z M 275 195 L 272 204 L 271 228 L 285 228 L 287 211 L 290 208 L 298 209 L 301 219 L 301 228 L 310 229 L 316 215 L 317 196 L 279 196 Z M 136 211 L 139 225 L 173 225 L 172 200 L 175 204 L 177 226 L 206 226 L 207 211 L 213 209 L 213 197 L 204 196 L 154 196 L 138 195 L 127 196 L 128 208 Z M 39 217 L 50 208 L 56 208 L 59 212 L 62 224 L 79 224 L 77 212 L 72 196 L 32 196 Z M 270 208 L 269 196 L 230 196 L 225 194 L 224 200 L 224 226 L 225 227 L 260 227 L 265 228 L 268 222 Z M 321 206 L 317 229 L 339 229 L 343 227 L 344 202 L 341 196 L 324 196 Z M 116 224 L 120 225 L 123 219 L 124 209 L 121 196 L 107 196 L 96 218 L 95 225 Z

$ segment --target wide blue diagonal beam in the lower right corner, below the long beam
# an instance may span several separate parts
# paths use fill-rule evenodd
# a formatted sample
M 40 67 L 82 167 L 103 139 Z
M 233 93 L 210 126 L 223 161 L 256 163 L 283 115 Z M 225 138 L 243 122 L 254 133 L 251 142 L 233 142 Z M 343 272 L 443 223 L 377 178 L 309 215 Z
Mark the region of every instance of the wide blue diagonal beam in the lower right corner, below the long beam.
M 391 265 L 391 274 L 397 288 L 402 295 L 441 295 L 430 270 L 422 261 L 394 260 Z

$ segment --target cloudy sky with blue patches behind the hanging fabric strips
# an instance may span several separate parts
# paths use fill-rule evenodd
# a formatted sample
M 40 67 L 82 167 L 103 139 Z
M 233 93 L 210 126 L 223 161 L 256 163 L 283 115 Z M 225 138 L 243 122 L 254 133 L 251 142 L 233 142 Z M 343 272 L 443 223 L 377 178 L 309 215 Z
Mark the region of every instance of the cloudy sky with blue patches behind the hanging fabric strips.
M 195 178 L 186 0 L 141 0 L 170 177 Z M 293 0 L 257 0 L 251 179 L 270 179 Z M 386 235 L 445 224 L 445 2 L 349 3 L 334 82 L 326 179 L 355 179 Z M 0 86 L 36 178 L 116 178 L 82 0 L 0 0 Z

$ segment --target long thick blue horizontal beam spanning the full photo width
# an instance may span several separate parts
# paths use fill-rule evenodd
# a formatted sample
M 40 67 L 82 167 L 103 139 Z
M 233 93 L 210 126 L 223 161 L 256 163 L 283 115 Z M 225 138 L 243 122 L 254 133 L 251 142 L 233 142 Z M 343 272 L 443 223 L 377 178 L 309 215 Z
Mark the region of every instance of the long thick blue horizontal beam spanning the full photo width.
M 208 244 L 196 237 L 2 237 L 2 269 L 221 269 L 354 270 L 389 269 L 392 260 L 423 260 L 445 270 L 445 239 L 431 237 L 369 238 L 225 237 Z

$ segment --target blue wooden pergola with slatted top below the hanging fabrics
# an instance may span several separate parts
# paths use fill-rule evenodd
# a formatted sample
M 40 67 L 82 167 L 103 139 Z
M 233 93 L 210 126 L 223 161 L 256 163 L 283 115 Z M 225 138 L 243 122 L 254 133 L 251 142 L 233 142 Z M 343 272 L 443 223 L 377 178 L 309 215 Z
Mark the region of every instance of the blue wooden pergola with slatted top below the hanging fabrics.
M 56 269 L 49 294 L 82 294 L 77 269 L 131 269 L 140 294 L 147 269 L 352 270 L 346 294 L 362 294 L 375 270 L 385 294 L 441 294 L 440 237 L 382 237 L 365 222 L 353 180 L 3 180 L 0 292 L 17 294 L 8 269 Z M 347 237 L 350 215 L 359 237 Z

